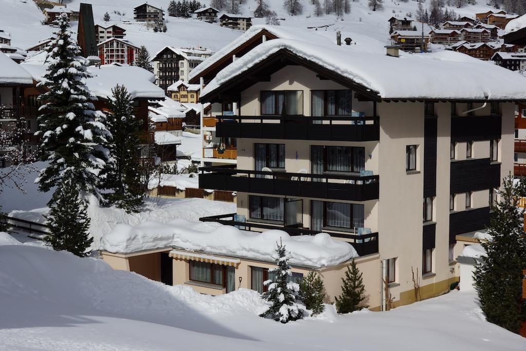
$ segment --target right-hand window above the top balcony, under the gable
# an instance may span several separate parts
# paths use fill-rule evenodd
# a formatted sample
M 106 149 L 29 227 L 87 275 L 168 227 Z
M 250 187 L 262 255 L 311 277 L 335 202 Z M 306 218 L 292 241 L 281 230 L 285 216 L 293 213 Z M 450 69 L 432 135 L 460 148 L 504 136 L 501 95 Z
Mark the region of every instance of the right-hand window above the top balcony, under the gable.
M 350 90 L 311 91 L 312 116 L 350 116 L 352 93 Z

